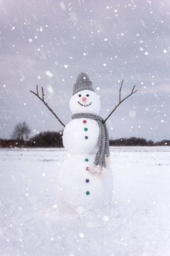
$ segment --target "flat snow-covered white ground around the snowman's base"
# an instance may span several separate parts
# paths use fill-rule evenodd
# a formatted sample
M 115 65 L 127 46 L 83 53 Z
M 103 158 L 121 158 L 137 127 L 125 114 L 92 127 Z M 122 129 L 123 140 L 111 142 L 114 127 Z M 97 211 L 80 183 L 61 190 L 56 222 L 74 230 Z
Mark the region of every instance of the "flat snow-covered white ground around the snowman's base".
M 169 256 L 170 147 L 111 148 L 112 209 L 60 212 L 63 149 L 0 150 L 1 256 Z

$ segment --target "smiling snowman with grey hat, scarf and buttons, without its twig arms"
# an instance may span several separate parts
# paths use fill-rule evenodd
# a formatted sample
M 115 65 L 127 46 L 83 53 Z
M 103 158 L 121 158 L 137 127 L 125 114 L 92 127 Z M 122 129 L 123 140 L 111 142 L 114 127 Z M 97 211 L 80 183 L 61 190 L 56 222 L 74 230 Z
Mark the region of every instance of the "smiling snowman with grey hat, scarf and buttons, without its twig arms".
M 110 205 L 113 177 L 108 129 L 99 117 L 99 96 L 86 73 L 78 75 L 69 106 L 72 120 L 62 137 L 68 156 L 58 173 L 60 205 L 89 210 Z

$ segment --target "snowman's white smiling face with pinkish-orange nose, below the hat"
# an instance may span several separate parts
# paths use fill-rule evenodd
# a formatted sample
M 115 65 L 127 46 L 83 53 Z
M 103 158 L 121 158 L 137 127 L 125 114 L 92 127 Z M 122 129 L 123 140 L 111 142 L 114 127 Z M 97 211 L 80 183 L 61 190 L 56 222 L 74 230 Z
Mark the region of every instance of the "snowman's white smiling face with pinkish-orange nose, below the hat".
M 72 114 L 89 113 L 99 114 L 99 96 L 92 90 L 82 90 L 71 97 L 70 108 Z

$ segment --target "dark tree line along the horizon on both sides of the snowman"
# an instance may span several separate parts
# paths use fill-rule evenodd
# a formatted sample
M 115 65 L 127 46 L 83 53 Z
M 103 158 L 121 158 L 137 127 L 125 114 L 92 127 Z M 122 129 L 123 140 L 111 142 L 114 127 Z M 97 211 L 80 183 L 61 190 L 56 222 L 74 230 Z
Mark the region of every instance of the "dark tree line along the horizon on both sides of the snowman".
M 0 148 L 62 148 L 62 131 L 44 131 L 33 137 L 30 127 L 26 122 L 18 123 L 11 134 L 11 139 L 0 139 Z M 111 139 L 110 146 L 170 146 L 170 140 L 164 139 L 159 142 L 146 140 L 140 137 Z

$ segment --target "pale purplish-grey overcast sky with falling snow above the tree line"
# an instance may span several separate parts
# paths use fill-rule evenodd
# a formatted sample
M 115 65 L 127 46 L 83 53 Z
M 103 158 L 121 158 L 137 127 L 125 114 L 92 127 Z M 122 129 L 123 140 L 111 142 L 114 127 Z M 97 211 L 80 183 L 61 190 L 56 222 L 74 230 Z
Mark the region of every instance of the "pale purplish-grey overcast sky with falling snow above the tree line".
M 67 124 L 81 71 L 101 97 L 105 118 L 134 84 L 138 92 L 108 119 L 110 137 L 170 139 L 170 1 L 0 0 L 0 137 L 26 121 L 32 135 Z

